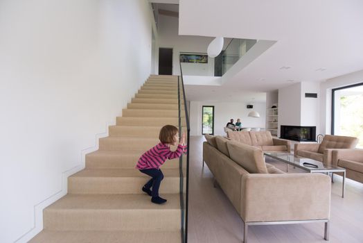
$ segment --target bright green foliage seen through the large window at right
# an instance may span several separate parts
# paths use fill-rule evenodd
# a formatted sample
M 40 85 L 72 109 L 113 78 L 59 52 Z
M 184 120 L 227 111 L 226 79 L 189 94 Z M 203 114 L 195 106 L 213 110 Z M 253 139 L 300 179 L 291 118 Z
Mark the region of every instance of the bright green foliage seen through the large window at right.
M 340 98 L 341 135 L 358 137 L 358 148 L 363 148 L 363 94 Z

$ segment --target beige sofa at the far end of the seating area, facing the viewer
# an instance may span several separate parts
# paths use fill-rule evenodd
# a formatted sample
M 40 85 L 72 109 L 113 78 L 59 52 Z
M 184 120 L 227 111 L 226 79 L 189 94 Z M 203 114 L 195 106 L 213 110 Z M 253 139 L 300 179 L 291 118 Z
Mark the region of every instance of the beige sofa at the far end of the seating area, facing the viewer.
M 290 141 L 272 137 L 269 131 L 228 131 L 227 137 L 263 151 L 279 151 L 290 153 Z

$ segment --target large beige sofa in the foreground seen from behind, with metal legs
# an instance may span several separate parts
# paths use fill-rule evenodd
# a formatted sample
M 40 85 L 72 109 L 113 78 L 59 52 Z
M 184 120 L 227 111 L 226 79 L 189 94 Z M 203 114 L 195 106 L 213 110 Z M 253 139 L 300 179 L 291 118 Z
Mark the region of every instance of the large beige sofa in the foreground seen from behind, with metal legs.
M 256 224 L 297 224 L 324 221 L 328 240 L 329 176 L 285 174 L 265 163 L 254 146 L 206 135 L 203 160 L 247 228 Z

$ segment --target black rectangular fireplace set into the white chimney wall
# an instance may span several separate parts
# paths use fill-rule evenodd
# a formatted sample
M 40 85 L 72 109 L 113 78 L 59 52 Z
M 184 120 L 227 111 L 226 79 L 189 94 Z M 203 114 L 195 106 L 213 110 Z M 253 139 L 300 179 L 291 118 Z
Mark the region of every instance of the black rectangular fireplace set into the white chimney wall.
M 281 138 L 285 140 L 316 142 L 316 126 L 281 126 Z

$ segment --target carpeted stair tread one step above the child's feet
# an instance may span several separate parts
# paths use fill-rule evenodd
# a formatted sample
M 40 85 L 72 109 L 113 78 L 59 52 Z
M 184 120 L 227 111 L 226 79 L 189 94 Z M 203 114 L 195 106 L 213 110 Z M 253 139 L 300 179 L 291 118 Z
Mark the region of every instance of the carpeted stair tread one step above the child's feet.
M 179 169 L 163 169 L 164 178 L 165 177 L 177 177 L 179 178 Z M 123 168 L 123 169 L 82 169 L 76 174 L 69 176 L 73 177 L 145 177 L 149 176 L 141 173 L 138 169 L 134 168 Z

